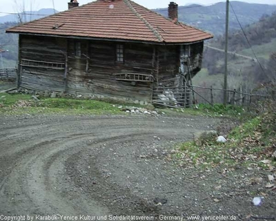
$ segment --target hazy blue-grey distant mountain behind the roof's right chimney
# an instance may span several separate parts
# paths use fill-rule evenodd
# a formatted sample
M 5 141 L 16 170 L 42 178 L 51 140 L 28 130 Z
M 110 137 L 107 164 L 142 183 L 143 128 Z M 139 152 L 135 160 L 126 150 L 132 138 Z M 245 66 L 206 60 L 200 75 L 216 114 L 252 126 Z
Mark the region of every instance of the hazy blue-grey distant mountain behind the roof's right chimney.
M 272 15 L 276 11 L 276 5 L 244 3 L 240 1 L 231 1 L 231 6 L 235 10 L 242 26 L 255 23 L 263 15 Z M 155 10 L 165 17 L 168 16 L 166 8 Z M 201 6 L 191 4 L 189 6 L 179 7 L 179 20 L 191 26 L 207 30 L 214 35 L 222 35 L 225 30 L 226 3 L 220 2 L 213 6 Z M 239 23 L 235 18 L 233 10 L 230 8 L 230 29 L 240 29 Z

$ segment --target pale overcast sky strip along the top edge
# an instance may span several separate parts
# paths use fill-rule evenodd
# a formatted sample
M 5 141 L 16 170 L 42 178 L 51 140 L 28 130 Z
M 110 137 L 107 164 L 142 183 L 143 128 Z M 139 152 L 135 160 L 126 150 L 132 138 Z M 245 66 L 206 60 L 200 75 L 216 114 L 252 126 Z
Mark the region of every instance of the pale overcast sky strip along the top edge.
M 69 0 L 0 0 L 1 8 L 0 12 L 16 12 L 17 8 L 15 7 L 14 1 L 17 1 L 18 5 L 23 5 L 25 2 L 26 10 L 30 10 L 32 5 L 32 10 L 39 10 L 41 8 L 53 8 L 53 3 L 55 4 L 55 9 L 58 11 L 67 10 Z M 91 2 L 92 0 L 78 0 L 80 5 Z M 174 0 L 134 0 L 136 3 L 139 3 L 146 8 L 166 8 L 168 3 Z M 221 1 L 221 0 L 220 0 Z M 212 3 L 220 2 L 219 0 L 175 0 L 179 6 L 185 6 L 187 3 L 199 3 L 203 5 L 210 5 Z M 248 3 L 263 3 L 263 4 L 276 4 L 276 0 L 242 0 Z M 3 14 L 0 13 L 0 16 Z

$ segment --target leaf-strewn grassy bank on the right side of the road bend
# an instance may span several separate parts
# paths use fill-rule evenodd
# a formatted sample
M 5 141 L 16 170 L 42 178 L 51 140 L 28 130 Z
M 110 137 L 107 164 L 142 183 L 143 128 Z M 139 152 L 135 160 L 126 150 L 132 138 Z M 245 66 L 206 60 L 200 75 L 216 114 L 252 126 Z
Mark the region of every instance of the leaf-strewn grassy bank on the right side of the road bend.
M 248 120 L 234 128 L 226 143 L 205 140 L 201 146 L 195 142 L 178 144 L 175 159 L 181 166 L 210 169 L 216 166 L 244 166 L 257 169 L 275 169 L 272 154 L 276 142 L 276 114 L 266 114 Z

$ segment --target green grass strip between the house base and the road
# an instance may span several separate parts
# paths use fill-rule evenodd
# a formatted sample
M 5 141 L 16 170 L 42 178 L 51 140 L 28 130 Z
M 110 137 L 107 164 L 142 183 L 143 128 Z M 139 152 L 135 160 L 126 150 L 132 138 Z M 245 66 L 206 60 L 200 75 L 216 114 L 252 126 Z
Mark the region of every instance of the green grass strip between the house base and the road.
M 34 101 L 31 95 L 0 93 L 0 113 L 23 114 L 23 113 L 68 113 L 68 114 L 122 114 L 118 106 L 135 106 L 147 108 L 152 111 L 154 106 L 141 106 L 139 104 L 128 104 L 115 102 L 111 99 L 70 99 L 70 98 L 48 98 L 41 97 Z M 226 106 L 215 104 L 210 106 L 200 104 L 197 108 L 160 108 L 170 116 L 201 115 L 209 117 L 221 117 L 221 115 L 238 115 L 243 111 L 239 106 Z

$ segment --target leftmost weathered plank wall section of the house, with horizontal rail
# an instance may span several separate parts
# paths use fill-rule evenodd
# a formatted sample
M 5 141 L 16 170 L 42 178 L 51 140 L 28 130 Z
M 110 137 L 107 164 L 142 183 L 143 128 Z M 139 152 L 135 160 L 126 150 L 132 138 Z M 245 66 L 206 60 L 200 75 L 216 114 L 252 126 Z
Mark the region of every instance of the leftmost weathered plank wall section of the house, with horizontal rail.
M 66 41 L 55 37 L 20 35 L 19 85 L 31 90 L 63 92 Z

